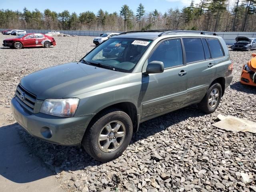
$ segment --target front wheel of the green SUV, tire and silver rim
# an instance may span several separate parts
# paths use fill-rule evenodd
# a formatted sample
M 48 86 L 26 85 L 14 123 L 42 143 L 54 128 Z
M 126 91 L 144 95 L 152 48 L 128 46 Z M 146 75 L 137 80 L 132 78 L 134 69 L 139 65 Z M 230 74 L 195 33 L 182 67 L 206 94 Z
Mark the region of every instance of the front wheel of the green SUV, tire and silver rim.
M 92 158 L 108 162 L 124 152 L 132 139 L 132 130 L 132 120 L 128 114 L 112 108 L 99 114 L 87 128 L 82 146 Z M 115 137 L 117 135 L 119 137 Z

